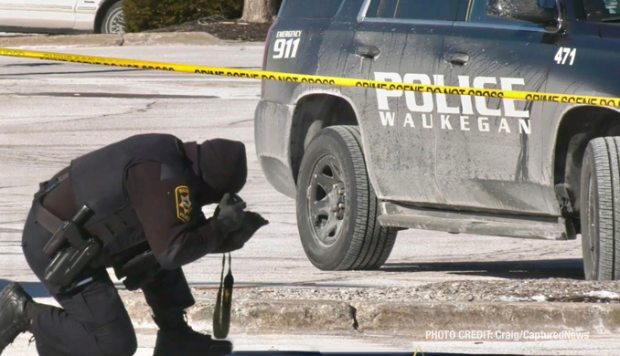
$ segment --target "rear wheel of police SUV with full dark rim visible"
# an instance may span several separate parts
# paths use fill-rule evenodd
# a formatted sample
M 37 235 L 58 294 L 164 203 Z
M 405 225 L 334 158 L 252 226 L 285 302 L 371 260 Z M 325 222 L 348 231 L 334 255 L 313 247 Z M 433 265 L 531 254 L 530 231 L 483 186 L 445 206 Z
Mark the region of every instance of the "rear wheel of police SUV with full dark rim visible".
M 397 231 L 379 225 L 357 126 L 319 131 L 297 179 L 297 225 L 305 255 L 322 270 L 377 269 Z

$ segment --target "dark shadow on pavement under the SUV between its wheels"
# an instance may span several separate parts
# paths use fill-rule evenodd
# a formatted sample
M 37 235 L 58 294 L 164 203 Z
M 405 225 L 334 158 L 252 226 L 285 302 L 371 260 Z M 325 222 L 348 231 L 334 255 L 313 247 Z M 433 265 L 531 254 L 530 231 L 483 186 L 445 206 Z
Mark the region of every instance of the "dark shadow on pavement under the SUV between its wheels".
M 581 258 L 539 261 L 387 263 L 380 270 L 385 272 L 448 272 L 454 275 L 512 279 L 584 279 Z

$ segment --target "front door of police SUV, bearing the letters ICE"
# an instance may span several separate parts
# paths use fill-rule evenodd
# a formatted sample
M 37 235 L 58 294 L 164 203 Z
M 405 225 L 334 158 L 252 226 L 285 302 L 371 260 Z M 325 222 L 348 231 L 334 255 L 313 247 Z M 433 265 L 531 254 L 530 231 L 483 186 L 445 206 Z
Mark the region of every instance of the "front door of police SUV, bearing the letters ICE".
M 467 1 L 464 1 L 467 3 Z M 559 35 L 527 21 L 486 16 L 471 0 L 445 35 L 439 71 L 454 87 L 546 91 Z M 557 28 L 556 28 L 557 32 Z M 437 134 L 437 182 L 446 203 L 474 210 L 553 215 L 553 167 L 541 162 L 551 132 L 545 103 L 453 96 L 452 128 Z M 554 134 L 554 132 L 552 133 Z

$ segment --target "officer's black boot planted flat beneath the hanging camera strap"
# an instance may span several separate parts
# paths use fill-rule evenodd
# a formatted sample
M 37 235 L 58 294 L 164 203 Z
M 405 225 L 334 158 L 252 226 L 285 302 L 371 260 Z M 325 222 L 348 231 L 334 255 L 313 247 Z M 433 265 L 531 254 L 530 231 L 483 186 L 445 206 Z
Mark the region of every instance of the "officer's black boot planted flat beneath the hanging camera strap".
M 232 344 L 213 340 L 187 325 L 185 311 L 166 310 L 153 317 L 159 327 L 153 356 L 222 356 L 232 353 Z

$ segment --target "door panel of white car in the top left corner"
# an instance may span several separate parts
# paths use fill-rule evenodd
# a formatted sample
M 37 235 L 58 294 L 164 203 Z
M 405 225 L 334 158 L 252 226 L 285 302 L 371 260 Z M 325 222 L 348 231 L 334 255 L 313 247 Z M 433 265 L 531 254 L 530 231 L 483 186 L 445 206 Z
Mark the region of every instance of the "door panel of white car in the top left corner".
M 77 0 L 0 0 L 0 26 L 72 28 Z

